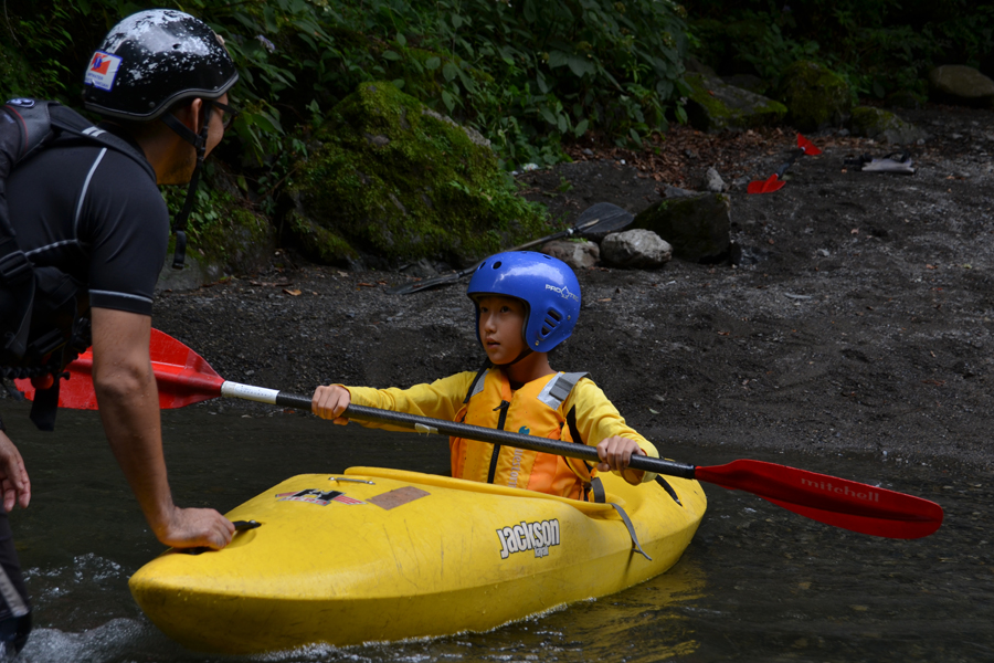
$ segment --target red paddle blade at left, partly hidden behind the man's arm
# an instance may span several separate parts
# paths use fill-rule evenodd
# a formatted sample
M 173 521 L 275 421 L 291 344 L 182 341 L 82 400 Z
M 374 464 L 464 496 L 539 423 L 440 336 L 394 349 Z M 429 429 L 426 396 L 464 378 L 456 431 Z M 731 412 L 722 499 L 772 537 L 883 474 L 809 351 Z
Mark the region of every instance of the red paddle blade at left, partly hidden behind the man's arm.
M 149 354 L 152 371 L 159 386 L 159 407 L 163 410 L 182 408 L 221 396 L 224 379 L 203 360 L 203 357 L 158 329 L 151 330 Z M 59 407 L 72 410 L 96 410 L 93 390 L 93 352 L 87 350 L 66 367 L 70 379 L 59 388 Z M 34 400 L 31 380 L 14 380 L 18 389 Z

